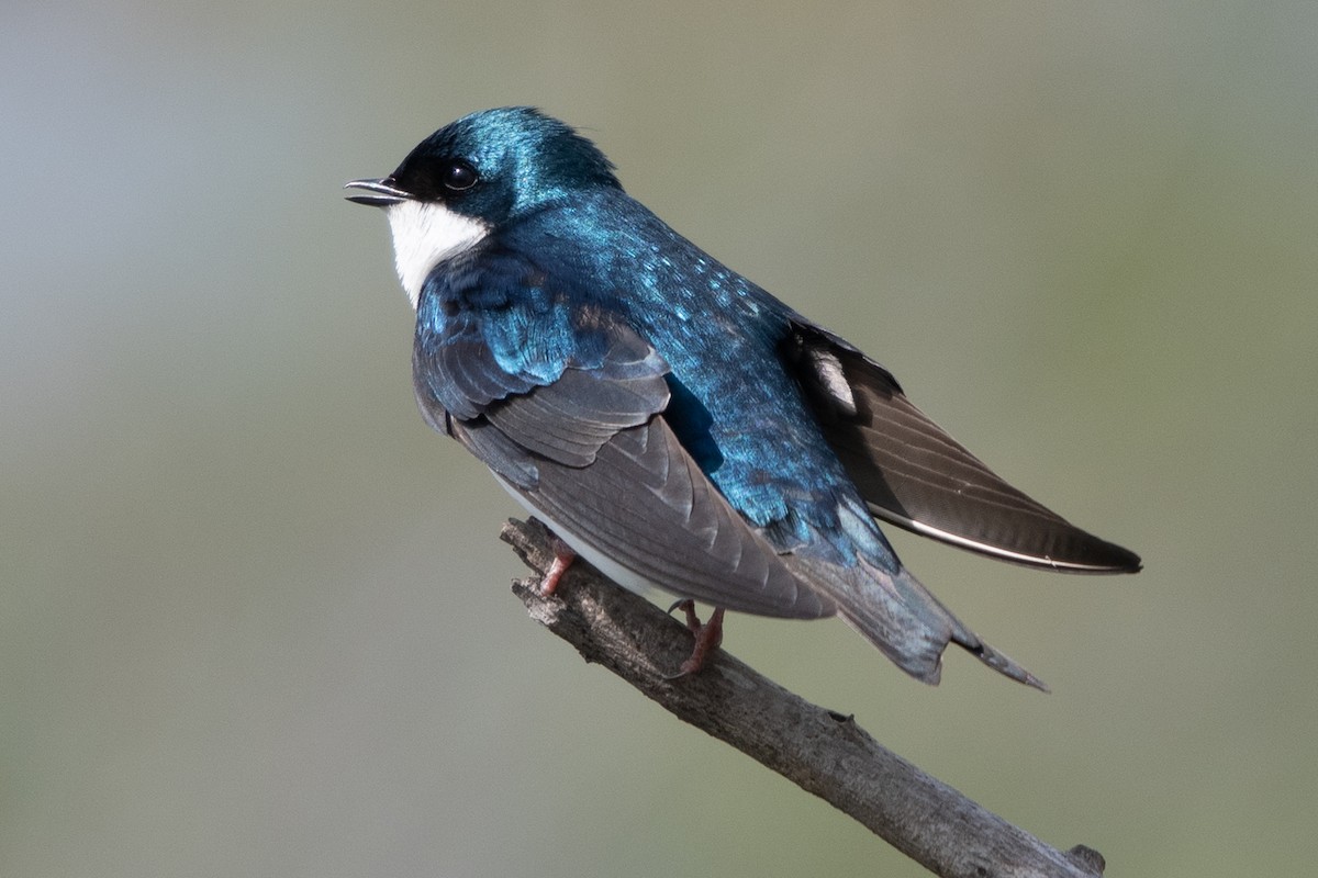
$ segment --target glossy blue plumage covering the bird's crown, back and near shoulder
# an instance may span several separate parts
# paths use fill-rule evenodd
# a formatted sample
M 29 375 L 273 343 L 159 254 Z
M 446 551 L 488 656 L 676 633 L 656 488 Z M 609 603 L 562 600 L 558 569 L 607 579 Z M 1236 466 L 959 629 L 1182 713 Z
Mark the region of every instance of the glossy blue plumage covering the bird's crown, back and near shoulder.
M 472 125 L 486 130 L 472 138 Z M 478 170 L 518 184 L 488 195 L 509 203 L 481 205 L 507 220 L 423 284 L 419 395 L 480 417 L 568 367 L 597 369 L 608 340 L 593 321 L 621 320 L 671 370 L 664 417 L 684 448 L 780 552 L 899 569 L 873 520 L 855 517 L 866 507 L 782 367 L 791 309 L 627 196 L 602 153 L 561 122 L 522 109 L 460 120 L 415 154 L 467 141 L 478 143 L 468 153 Z

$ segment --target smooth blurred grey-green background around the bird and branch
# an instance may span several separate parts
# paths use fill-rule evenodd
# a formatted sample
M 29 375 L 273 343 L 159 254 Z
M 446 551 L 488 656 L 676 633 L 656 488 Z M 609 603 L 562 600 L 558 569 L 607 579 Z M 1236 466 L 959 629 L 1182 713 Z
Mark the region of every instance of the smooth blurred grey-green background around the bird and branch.
M 536 104 L 1144 555 L 898 534 L 1052 687 L 728 646 L 1110 874 L 1300 874 L 1318 7 L 26 3 L 0 13 L 0 873 L 919 875 L 526 617 L 340 186 Z

